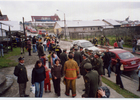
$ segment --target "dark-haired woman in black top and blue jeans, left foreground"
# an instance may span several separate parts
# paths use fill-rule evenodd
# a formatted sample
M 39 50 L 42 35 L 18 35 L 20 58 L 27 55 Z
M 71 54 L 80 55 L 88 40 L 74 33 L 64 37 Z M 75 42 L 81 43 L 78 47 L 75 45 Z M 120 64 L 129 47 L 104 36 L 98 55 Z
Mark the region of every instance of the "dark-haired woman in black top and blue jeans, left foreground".
M 46 78 L 45 67 L 38 60 L 32 70 L 32 84 L 35 84 L 35 97 L 43 96 L 44 80 Z

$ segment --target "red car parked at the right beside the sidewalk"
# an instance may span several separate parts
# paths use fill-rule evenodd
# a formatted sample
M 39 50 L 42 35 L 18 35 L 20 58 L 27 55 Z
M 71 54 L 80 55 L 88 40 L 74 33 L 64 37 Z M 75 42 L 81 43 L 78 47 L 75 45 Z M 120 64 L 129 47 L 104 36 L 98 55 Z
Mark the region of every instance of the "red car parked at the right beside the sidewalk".
M 110 49 L 109 50 L 111 54 L 111 67 L 113 71 L 116 71 L 116 59 L 120 59 L 121 63 L 123 64 L 124 71 L 133 71 L 138 68 L 138 65 L 140 64 L 140 59 L 138 57 L 135 57 L 131 52 L 123 49 Z

